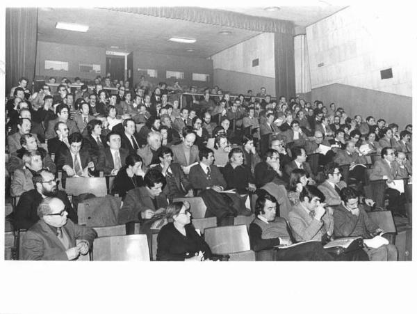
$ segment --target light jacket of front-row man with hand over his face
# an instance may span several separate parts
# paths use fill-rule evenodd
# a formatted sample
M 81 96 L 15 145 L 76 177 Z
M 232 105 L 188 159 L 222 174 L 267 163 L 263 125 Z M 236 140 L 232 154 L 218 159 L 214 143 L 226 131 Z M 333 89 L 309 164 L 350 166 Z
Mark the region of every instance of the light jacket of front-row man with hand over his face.
M 288 214 L 288 220 L 297 241 L 320 241 L 322 233 L 329 233 L 330 235 L 333 233 L 332 215 L 326 212 L 322 219 L 318 221 L 311 217 L 300 203 L 293 206 L 293 210 Z

